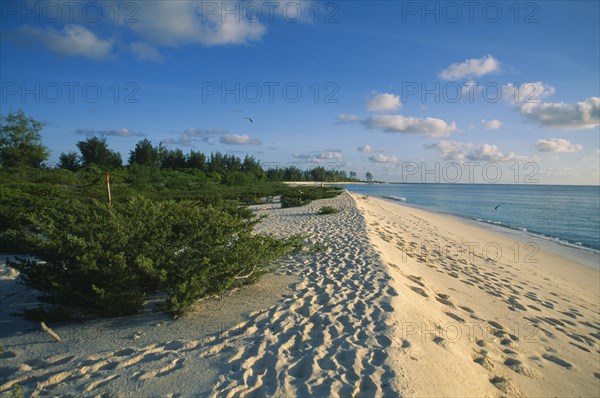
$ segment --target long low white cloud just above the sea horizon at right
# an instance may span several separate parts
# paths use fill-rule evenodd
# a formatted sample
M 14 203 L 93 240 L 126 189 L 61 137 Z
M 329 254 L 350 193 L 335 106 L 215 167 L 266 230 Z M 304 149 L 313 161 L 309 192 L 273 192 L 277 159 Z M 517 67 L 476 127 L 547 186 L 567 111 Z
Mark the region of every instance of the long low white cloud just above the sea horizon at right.
M 496 145 L 491 144 L 440 141 L 436 144 L 425 145 L 425 148 L 436 149 L 440 159 L 449 161 L 510 162 L 530 160 L 528 157 L 518 156 L 514 152 L 503 154 Z

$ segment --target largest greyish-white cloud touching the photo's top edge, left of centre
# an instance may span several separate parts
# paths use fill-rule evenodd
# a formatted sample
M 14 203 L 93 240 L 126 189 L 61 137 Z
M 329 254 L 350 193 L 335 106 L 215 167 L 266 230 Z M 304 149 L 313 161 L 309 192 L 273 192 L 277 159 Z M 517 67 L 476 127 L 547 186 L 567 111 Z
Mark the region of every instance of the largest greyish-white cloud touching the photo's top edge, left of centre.
M 136 4 L 139 7 L 136 14 L 139 22 L 126 26 L 153 44 L 243 44 L 260 40 L 266 32 L 265 25 L 243 17 L 241 11 L 225 12 L 225 7 L 233 10 L 240 6 L 240 2 L 179 0 Z

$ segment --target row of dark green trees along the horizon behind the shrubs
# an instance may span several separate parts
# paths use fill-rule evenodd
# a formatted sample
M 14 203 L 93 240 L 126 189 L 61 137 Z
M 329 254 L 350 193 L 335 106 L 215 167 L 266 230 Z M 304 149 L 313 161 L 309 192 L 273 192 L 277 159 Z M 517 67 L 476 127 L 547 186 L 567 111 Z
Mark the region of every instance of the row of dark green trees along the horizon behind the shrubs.
M 43 123 L 28 117 L 22 110 L 1 116 L 0 164 L 3 167 L 44 167 L 50 151 L 42 144 L 40 132 L 43 126 Z M 79 153 L 61 153 L 57 168 L 77 171 L 92 165 L 109 170 L 123 167 L 121 154 L 109 148 L 105 137 L 90 137 L 76 145 Z M 269 181 L 359 181 L 354 171 L 347 173 L 345 170 L 323 166 L 302 170 L 295 165 L 265 170 L 253 156 L 246 155 L 241 159 L 220 152 L 206 155 L 190 150 L 184 153 L 181 149 L 168 149 L 162 143 L 153 145 L 146 138 L 129 151 L 127 164 L 160 169 L 196 169 L 207 175 L 220 175 L 221 178 L 230 173 L 243 173 Z M 373 179 L 370 172 L 366 174 L 366 179 Z

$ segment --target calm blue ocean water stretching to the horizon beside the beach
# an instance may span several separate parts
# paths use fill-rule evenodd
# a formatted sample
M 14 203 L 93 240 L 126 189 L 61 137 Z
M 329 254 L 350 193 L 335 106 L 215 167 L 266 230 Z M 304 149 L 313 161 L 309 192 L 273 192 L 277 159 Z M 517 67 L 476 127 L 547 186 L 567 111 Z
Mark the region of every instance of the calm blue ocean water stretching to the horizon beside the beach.
M 364 184 L 363 195 L 600 251 L 600 187 L 524 184 Z

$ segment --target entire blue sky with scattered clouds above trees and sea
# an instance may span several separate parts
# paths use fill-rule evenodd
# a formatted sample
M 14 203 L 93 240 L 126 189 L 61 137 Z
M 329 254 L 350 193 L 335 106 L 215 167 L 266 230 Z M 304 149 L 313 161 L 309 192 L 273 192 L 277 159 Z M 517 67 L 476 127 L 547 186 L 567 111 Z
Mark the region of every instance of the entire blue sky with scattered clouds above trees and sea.
M 1 113 L 390 182 L 600 184 L 598 1 L 2 1 Z

